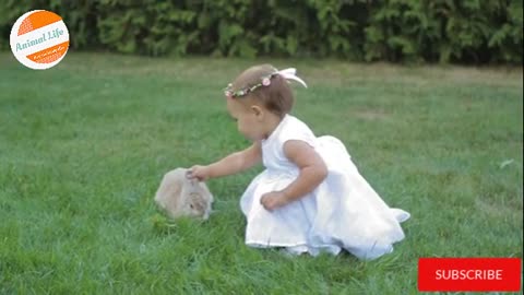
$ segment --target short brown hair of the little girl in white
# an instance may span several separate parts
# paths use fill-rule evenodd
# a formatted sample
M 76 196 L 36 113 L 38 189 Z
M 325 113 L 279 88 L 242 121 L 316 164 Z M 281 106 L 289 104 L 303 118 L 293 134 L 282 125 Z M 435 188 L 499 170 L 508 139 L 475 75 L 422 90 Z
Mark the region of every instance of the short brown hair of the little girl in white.
M 293 108 L 294 96 L 291 87 L 285 78 L 274 74 L 277 70 L 271 64 L 254 66 L 243 71 L 231 83 L 233 91 L 252 87 L 260 84 L 264 76 L 271 75 L 271 83 L 267 86 L 257 87 L 246 96 L 235 97 L 242 101 L 252 98 L 262 104 L 267 110 L 274 113 L 281 118 L 288 114 Z

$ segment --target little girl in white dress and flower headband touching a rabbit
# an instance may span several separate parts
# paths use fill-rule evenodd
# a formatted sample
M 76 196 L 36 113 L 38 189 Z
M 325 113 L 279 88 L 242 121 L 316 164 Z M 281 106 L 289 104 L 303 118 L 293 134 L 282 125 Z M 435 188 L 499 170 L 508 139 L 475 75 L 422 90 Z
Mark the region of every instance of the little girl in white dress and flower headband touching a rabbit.
M 391 252 L 392 244 L 404 238 L 398 223 L 409 214 L 382 201 L 340 140 L 317 138 L 289 115 L 294 96 L 288 80 L 307 86 L 295 69 L 278 71 L 270 64 L 252 67 L 229 84 L 227 110 L 252 144 L 191 167 L 189 177 L 231 175 L 262 162 L 265 170 L 240 199 L 249 246 L 313 256 L 345 249 L 361 259 Z

